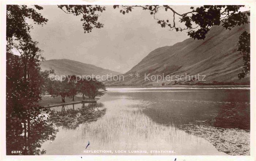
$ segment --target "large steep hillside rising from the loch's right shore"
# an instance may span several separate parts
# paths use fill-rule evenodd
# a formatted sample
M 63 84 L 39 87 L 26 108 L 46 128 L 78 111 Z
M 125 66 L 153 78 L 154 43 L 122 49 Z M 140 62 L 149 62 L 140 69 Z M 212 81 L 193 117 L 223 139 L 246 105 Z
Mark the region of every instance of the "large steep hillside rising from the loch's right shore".
M 242 71 L 242 55 L 237 51 L 238 37 L 249 30 L 249 24 L 226 30 L 213 26 L 206 39 L 188 38 L 173 46 L 164 46 L 151 51 L 139 64 L 124 74 L 124 81 L 105 81 L 106 85 L 206 85 L 206 84 L 249 84 L 250 77 L 239 80 Z M 139 73 L 140 77 L 129 77 Z M 206 81 L 148 81 L 144 74 L 151 75 L 206 75 Z M 151 76 L 150 75 L 150 76 Z

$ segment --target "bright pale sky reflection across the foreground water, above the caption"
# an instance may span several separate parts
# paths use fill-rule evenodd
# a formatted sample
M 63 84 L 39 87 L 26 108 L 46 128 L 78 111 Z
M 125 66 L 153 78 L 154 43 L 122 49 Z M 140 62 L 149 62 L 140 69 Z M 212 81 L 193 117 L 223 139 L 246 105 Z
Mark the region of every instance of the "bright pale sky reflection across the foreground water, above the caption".
M 42 145 L 42 148 L 47 149 L 46 154 L 225 155 L 203 138 L 189 135 L 173 126 L 155 123 L 143 113 L 142 102 L 139 100 L 129 97 L 118 97 L 114 101 L 106 99 L 102 99 L 104 107 L 108 109 L 104 116 L 95 122 L 84 122 L 76 129 L 59 128 L 56 140 L 52 144 L 45 142 Z M 85 149 L 88 141 L 90 146 Z M 84 153 L 84 150 L 89 150 L 89 153 Z M 105 150 L 110 153 L 90 153 L 94 150 Z M 127 150 L 127 153 L 116 153 L 116 150 Z M 147 150 L 147 153 L 129 153 L 128 150 Z M 175 153 L 150 153 L 150 150 L 167 150 Z

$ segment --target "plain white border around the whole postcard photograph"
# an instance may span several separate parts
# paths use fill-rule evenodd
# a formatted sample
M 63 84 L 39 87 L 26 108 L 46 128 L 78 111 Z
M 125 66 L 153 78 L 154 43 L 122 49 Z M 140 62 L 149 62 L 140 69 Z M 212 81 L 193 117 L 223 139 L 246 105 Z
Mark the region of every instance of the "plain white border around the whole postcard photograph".
M 38 5 L 56 5 L 56 4 L 100 4 L 100 5 L 116 5 L 116 4 L 124 4 L 124 5 L 146 5 L 146 4 L 159 4 L 159 5 L 249 5 L 251 11 L 251 155 L 250 156 L 6 156 L 6 149 L 5 149 L 5 91 L 6 91 L 6 82 L 5 82 L 5 74 L 6 74 L 6 50 L 5 50 L 5 37 L 6 37 L 6 5 L 7 4 L 38 4 Z M 256 69 L 256 53 L 255 53 L 255 0 L 118 0 L 118 1 L 109 1 L 109 0 L 87 0 L 87 1 L 3 1 L 1 0 L 1 61 L 0 61 L 0 114 L 1 114 L 1 140 L 0 140 L 0 160 L 174 160 L 177 158 L 179 160 L 256 160 L 255 158 L 255 98 L 256 98 L 256 79 L 255 79 L 255 69 Z M 185 145 L 184 145 L 185 146 Z M 82 158 L 81 158 L 82 157 Z

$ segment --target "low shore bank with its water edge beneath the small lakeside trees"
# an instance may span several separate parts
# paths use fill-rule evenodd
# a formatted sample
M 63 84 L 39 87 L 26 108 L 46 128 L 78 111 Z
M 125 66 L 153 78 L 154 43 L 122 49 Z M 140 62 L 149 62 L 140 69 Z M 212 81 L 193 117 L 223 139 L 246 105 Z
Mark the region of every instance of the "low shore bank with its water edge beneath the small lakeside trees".
M 97 99 L 89 99 L 85 98 L 83 100 L 82 96 L 75 96 L 74 101 L 72 98 L 66 97 L 65 103 L 61 101 L 61 97 L 52 97 L 50 95 L 44 95 L 42 96 L 42 100 L 39 103 L 40 106 L 43 106 L 44 108 L 48 107 L 55 107 L 55 106 L 63 106 L 67 104 L 76 104 L 76 103 L 82 103 L 82 102 L 97 102 Z

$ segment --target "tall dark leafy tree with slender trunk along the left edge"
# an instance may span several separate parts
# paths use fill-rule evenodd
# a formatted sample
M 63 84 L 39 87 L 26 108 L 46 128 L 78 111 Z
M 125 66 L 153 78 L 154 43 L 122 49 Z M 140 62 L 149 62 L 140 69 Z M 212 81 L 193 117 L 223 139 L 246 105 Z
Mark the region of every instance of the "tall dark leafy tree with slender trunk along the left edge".
M 7 53 L 7 130 L 8 136 L 14 133 L 23 133 L 18 127 L 24 130 L 24 153 L 27 154 L 31 140 L 31 123 L 40 114 L 38 102 L 41 100 L 41 93 L 45 84 L 45 79 L 50 72 L 40 71 L 41 57 L 38 42 L 31 38 L 20 38 L 19 43 L 14 46 L 19 51 L 20 56 Z M 16 121 L 14 124 L 12 120 Z M 33 125 L 33 124 L 32 124 Z M 11 126 L 11 127 L 10 127 Z M 12 127 L 17 127 L 13 129 Z M 7 137 L 7 142 L 11 141 Z

